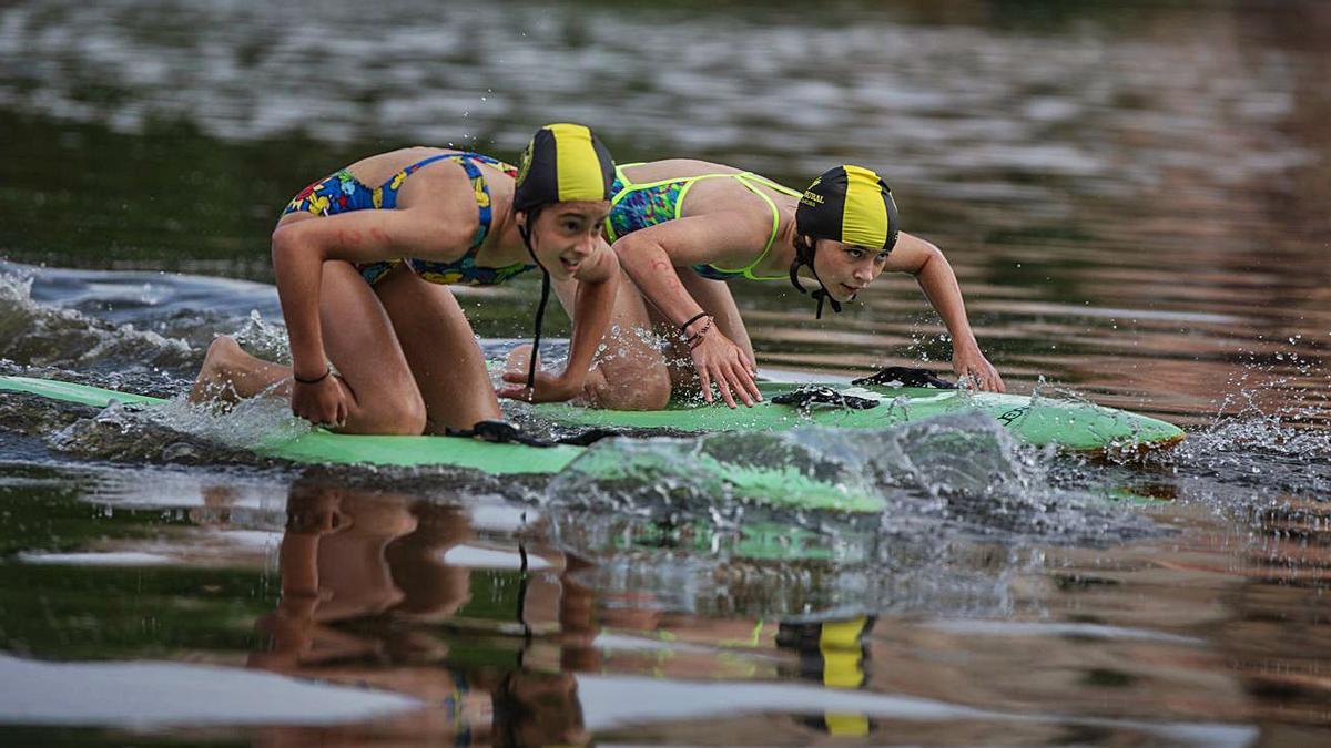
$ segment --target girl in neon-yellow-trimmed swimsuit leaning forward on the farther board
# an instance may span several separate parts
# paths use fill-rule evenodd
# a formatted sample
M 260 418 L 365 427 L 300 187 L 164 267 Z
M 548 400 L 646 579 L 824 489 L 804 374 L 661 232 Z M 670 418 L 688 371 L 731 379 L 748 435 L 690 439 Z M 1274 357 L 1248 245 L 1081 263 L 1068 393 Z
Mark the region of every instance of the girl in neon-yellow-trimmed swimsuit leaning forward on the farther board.
M 636 335 L 602 363 L 616 386 L 631 387 L 639 409 L 663 407 L 673 385 L 700 379 L 727 405 L 751 405 L 756 359 L 724 281 L 817 285 L 819 313 L 840 310 L 884 270 L 916 277 L 953 338 L 953 369 L 980 389 L 1002 391 L 966 319 L 952 266 L 938 248 L 900 233 L 886 184 L 869 169 L 837 166 L 804 192 L 752 172 L 704 161 L 669 160 L 616 168 L 607 236 L 638 291 L 626 289 L 615 323 L 672 330 L 671 355 Z M 672 370 L 668 359 L 689 362 Z

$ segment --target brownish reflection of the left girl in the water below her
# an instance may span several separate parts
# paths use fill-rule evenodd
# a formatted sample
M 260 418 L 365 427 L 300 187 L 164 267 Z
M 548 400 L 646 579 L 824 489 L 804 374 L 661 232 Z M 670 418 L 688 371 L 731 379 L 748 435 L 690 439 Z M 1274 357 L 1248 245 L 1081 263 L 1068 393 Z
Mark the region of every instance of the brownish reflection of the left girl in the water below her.
M 252 654 L 250 667 L 414 696 L 429 707 L 381 728 L 403 739 L 426 736 L 455 745 L 586 743 L 571 673 L 524 671 L 519 655 L 516 669 L 463 675 L 437 664 L 447 650 L 427 635 L 409 631 L 381 640 L 329 626 L 385 614 L 441 619 L 470 599 L 471 570 L 443 562 L 450 548 L 474 538 L 466 514 L 430 503 L 407 507 L 393 495 L 291 487 L 280 550 L 282 598 L 277 611 L 260 622 L 270 647 Z M 518 610 L 524 591 L 526 584 Z M 354 728 L 309 733 L 276 728 L 270 737 L 277 744 L 323 745 L 330 732 L 341 729 Z

